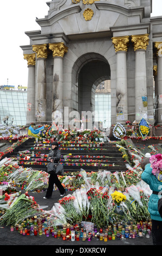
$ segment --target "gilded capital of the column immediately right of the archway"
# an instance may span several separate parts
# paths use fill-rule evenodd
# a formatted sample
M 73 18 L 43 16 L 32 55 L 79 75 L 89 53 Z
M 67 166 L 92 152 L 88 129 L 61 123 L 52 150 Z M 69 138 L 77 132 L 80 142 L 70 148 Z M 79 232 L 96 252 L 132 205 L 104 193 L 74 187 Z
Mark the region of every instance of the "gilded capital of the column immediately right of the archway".
M 111 38 L 114 44 L 115 52 L 128 50 L 129 36 L 119 36 Z

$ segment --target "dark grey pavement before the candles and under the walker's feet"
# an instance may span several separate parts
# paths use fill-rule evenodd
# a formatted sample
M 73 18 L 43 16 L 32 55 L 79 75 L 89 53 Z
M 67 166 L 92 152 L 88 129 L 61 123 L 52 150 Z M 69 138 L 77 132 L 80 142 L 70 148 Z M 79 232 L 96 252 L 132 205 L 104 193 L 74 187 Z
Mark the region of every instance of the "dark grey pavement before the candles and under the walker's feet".
M 24 192 L 25 191 L 22 191 L 22 193 Z M 72 194 L 72 193 L 73 191 L 70 191 L 70 192 L 67 191 L 67 194 Z M 54 203 L 57 203 L 58 200 L 61 198 L 58 190 L 53 191 L 52 198 L 50 199 L 43 199 L 43 197 L 46 194 L 45 191 L 41 193 L 28 192 L 28 194 L 30 196 L 33 196 L 35 198 L 35 201 L 40 206 L 46 206 L 44 210 L 51 210 Z M 51 246 L 54 246 L 53 252 L 55 253 L 73 254 L 75 252 L 76 253 L 102 253 L 102 252 L 104 253 L 102 249 L 103 250 L 105 249 L 106 250 L 105 252 L 108 252 L 109 246 L 116 246 L 116 245 L 117 246 L 124 246 L 124 245 L 150 246 L 150 245 L 153 245 L 153 243 L 152 243 L 151 236 L 149 238 L 146 238 L 146 236 L 144 236 L 141 239 L 139 237 L 136 237 L 135 239 L 108 240 L 107 242 L 97 240 L 96 236 L 94 236 L 90 242 L 88 240 L 82 241 L 81 239 L 79 241 L 74 241 L 74 242 L 63 241 L 62 238 L 57 239 L 57 238 L 54 238 L 52 235 L 49 235 L 49 237 L 46 237 L 45 235 L 22 236 L 20 233 L 18 233 L 17 230 L 10 231 L 10 226 L 5 226 L 0 228 L 0 245 L 3 245 L 3 246 L 15 246 L 15 245 L 16 246 L 20 246 L 20 245 L 49 246 L 51 245 Z M 117 248 L 118 247 L 115 247 L 115 250 Z

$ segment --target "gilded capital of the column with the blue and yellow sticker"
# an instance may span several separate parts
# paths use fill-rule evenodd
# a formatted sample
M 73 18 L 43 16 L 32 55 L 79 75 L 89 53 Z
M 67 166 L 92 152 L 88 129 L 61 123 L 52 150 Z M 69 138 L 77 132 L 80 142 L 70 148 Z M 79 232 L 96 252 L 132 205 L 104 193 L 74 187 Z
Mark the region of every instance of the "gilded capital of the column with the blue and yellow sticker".
M 149 41 L 149 34 L 144 35 L 132 35 L 131 41 L 134 43 L 134 51 L 137 50 L 146 50 L 148 41 Z

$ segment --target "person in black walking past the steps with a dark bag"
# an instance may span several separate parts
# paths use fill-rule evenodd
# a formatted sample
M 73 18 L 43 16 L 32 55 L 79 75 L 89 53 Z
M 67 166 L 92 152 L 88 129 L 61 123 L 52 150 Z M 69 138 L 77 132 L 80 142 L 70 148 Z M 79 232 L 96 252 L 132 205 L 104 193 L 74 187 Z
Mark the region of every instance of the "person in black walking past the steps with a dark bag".
M 57 141 L 53 142 L 51 144 L 51 147 L 52 149 L 49 151 L 47 162 L 58 163 L 61 157 L 61 152 L 59 149 L 58 142 Z M 65 188 L 61 185 L 61 182 L 58 179 L 58 175 L 55 173 L 51 173 L 48 180 L 48 188 L 47 188 L 46 196 L 43 197 L 44 199 L 48 199 L 52 197 L 54 184 L 58 187 L 60 191 L 60 196 L 61 197 L 65 196 L 66 191 L 65 191 Z

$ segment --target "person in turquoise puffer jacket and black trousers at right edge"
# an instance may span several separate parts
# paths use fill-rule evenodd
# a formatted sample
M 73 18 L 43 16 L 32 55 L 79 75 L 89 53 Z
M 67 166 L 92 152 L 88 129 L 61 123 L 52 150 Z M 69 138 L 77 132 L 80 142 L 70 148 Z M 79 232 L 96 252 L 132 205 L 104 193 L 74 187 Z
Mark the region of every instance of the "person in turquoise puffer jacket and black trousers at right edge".
M 158 211 L 158 200 L 161 198 L 162 194 L 162 182 L 152 174 L 151 163 L 147 163 L 145 167 L 142 168 L 144 172 L 141 175 L 141 179 L 144 180 L 152 190 L 148 202 L 148 211 L 152 220 L 153 245 L 162 245 L 162 218 Z

